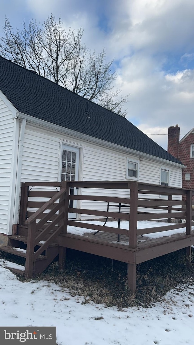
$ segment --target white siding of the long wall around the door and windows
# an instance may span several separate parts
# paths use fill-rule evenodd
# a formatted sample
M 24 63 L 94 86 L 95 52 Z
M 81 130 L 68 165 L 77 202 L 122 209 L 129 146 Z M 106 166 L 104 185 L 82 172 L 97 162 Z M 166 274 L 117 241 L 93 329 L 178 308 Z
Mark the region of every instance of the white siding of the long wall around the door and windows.
M 126 162 L 138 161 L 138 181 L 160 184 L 160 164 L 152 160 L 139 160 L 139 157 L 122 151 L 111 150 L 101 145 L 90 144 L 87 141 L 68 135 L 55 133 L 30 125 L 26 126 L 23 140 L 23 159 L 21 181 L 59 181 L 61 176 L 60 144 L 80 148 L 79 180 L 84 181 L 129 181 L 126 179 Z M 165 167 L 169 169 L 168 166 Z M 172 168 L 169 185 L 181 187 L 181 168 Z M 81 189 L 78 190 L 81 193 Z M 102 190 L 83 188 L 83 195 L 101 195 Z M 129 197 L 129 190 L 103 190 L 104 195 Z M 154 196 L 156 197 L 156 196 Z M 159 197 L 159 196 L 158 196 Z M 81 201 L 78 207 L 106 210 L 107 203 L 98 201 Z M 111 207 L 110 207 L 111 210 Z M 118 211 L 116 207 L 113 211 Z M 123 208 L 123 211 L 125 209 Z M 128 210 L 128 208 L 126 208 Z M 82 219 L 95 218 L 82 215 Z

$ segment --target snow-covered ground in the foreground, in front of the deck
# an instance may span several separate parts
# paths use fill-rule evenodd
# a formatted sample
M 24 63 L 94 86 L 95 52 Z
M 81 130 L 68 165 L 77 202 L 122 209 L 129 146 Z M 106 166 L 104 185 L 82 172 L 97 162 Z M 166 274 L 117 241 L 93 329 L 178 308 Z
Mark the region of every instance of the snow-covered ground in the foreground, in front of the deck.
M 82 304 L 54 283 L 21 283 L 7 264 L 0 260 L 0 326 L 56 326 L 60 345 L 194 344 L 193 280 L 150 308 L 118 309 Z

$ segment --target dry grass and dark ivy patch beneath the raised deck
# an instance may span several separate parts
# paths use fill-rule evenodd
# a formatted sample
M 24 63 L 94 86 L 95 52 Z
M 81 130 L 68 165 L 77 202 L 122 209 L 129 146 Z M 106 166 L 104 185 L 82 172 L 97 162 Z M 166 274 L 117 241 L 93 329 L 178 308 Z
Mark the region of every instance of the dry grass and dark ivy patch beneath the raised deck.
M 3 253 L 3 258 L 15 259 Z M 1 257 L 2 257 L 1 256 Z M 21 258 L 18 258 L 19 264 Z M 83 296 L 84 302 L 93 300 L 106 306 L 118 308 L 154 304 L 171 288 L 181 283 L 189 283 L 194 277 L 194 264 L 188 267 L 185 251 L 149 260 L 137 267 L 137 292 L 130 293 L 127 285 L 127 264 L 115 260 L 67 250 L 66 269 L 61 271 L 57 262 L 35 279 L 56 283 L 71 296 Z M 26 281 L 21 278 L 21 281 Z

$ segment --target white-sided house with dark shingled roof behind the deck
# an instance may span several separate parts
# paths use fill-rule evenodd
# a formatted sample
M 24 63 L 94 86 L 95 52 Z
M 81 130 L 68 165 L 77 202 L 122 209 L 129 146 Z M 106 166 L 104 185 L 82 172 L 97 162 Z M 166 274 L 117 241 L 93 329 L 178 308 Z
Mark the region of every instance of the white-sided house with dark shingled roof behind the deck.
M 10 235 L 18 222 L 21 182 L 139 180 L 182 186 L 181 162 L 126 118 L 2 57 L 0 71 L 2 244 L 2 235 Z M 128 192 L 111 191 L 118 193 Z M 88 206 L 105 207 L 82 201 Z

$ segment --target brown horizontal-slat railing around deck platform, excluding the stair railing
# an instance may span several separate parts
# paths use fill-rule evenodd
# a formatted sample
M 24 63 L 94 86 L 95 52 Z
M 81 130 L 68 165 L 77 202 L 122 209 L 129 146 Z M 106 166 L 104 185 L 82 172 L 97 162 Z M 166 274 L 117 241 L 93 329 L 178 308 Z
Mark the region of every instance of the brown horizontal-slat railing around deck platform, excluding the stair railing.
M 71 187 L 77 188 L 111 188 L 111 189 L 130 189 L 130 198 L 123 197 L 107 197 L 107 196 L 93 196 L 93 195 L 70 195 L 70 200 L 96 200 L 109 201 L 113 203 L 122 203 L 129 205 L 128 213 L 118 213 L 112 211 L 99 211 L 83 208 L 69 208 L 69 212 L 93 215 L 100 217 L 119 218 L 121 220 L 129 220 L 129 230 L 122 228 L 113 228 L 111 223 L 109 227 L 104 227 L 96 224 L 88 224 L 77 221 L 68 220 L 68 225 L 89 228 L 93 230 L 100 230 L 115 234 L 123 234 L 129 237 L 129 248 L 137 247 L 137 235 L 144 235 L 149 233 L 156 233 L 160 231 L 174 230 L 186 227 L 186 234 L 191 234 L 191 219 L 194 212 L 192 211 L 192 190 L 182 188 L 166 187 L 159 185 L 148 185 L 137 182 L 70 182 Z M 145 195 L 145 197 L 143 197 Z M 153 196 L 157 195 L 158 198 Z M 180 197 L 186 195 L 186 201 L 180 200 Z M 160 196 L 167 196 L 167 199 L 161 199 Z M 179 197 L 179 200 L 175 198 Z M 174 198 L 174 199 L 173 199 Z M 142 208 L 148 208 L 155 212 L 140 211 Z M 160 212 L 156 213 L 156 210 Z M 165 211 L 165 212 L 164 212 Z M 138 220 L 164 220 L 168 222 L 172 218 L 186 219 L 186 224 L 173 224 L 169 226 L 159 226 L 137 230 Z M 122 223 L 121 223 L 122 226 Z

